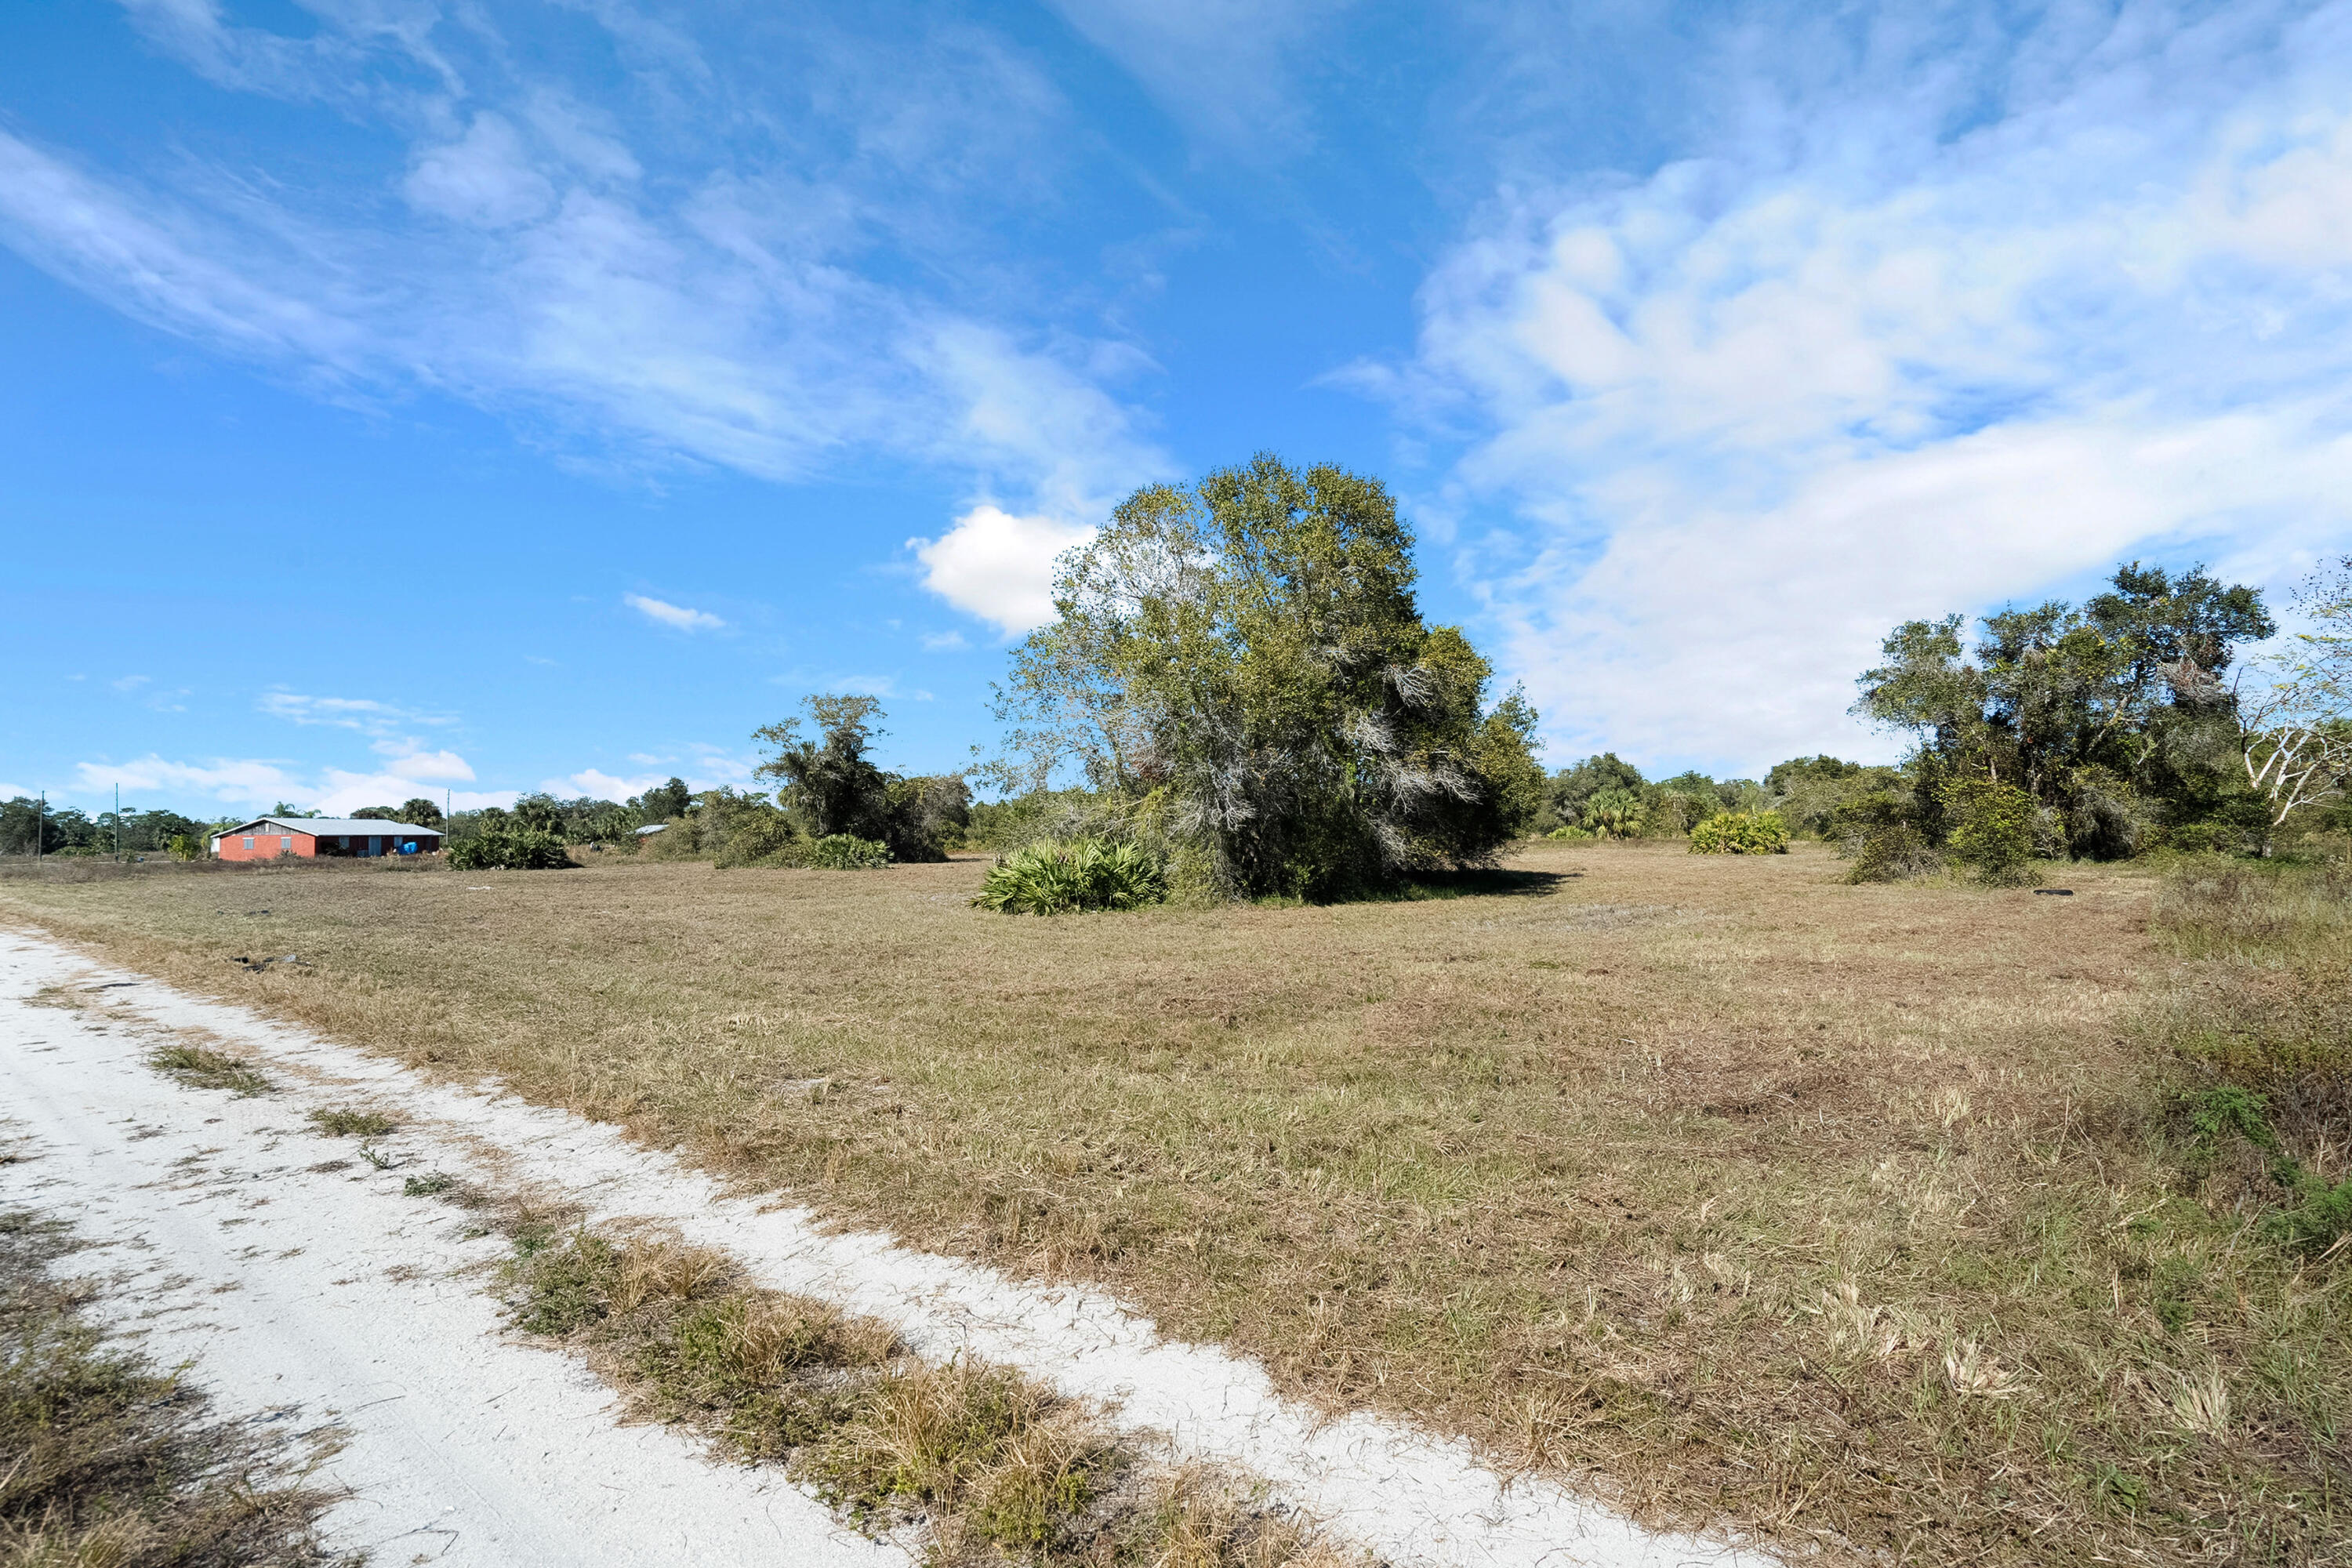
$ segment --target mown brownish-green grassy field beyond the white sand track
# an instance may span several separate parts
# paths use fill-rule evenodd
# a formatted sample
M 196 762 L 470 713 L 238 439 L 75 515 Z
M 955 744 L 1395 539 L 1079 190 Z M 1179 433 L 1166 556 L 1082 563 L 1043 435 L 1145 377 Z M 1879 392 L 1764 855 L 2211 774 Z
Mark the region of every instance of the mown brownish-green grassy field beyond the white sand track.
M 2352 1540 L 2352 1248 L 2265 1229 L 2281 1159 L 2343 1175 L 2333 884 L 1538 846 L 1040 922 L 981 870 L 68 867 L 0 919 L 1103 1281 L 1646 1519 L 1910 1563 Z M 2281 1030 L 2293 1117 L 2183 1119 Z

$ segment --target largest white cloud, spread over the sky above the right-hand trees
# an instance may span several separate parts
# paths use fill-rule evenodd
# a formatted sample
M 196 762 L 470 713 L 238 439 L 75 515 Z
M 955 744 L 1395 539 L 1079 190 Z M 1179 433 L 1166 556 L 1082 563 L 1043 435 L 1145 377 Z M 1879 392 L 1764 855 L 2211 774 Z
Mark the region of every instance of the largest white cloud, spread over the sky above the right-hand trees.
M 1479 430 L 1437 508 L 1517 512 L 1465 571 L 1569 750 L 1884 750 L 1837 715 L 1900 618 L 2352 531 L 2352 7 L 2251 9 L 1804 92 L 1766 47 L 1719 158 L 1496 202 L 1364 383 Z

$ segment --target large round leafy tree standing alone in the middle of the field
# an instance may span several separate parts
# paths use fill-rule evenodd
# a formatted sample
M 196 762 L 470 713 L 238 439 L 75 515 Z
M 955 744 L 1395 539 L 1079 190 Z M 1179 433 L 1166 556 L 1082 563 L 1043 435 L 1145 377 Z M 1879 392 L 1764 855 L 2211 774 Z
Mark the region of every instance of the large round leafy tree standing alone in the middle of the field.
M 1541 806 L 1536 712 L 1425 625 L 1388 489 L 1261 454 L 1150 484 L 1061 557 L 1000 689 L 1042 788 L 1075 762 L 1223 896 L 1336 896 L 1482 863 Z

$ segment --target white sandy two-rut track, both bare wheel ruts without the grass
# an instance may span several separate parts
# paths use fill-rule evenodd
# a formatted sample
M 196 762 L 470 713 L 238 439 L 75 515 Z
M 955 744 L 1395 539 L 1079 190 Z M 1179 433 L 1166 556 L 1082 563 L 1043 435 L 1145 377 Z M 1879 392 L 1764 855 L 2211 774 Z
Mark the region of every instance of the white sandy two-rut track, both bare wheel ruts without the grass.
M 108 1006 L 125 1016 L 111 1027 L 26 1001 L 42 985 L 108 983 Z M 165 1081 L 143 1056 L 174 1030 L 219 1037 L 285 1091 L 233 1100 Z M 1776 1561 L 1644 1530 L 1550 1481 L 1510 1481 L 1458 1439 L 1371 1415 L 1324 1420 L 1277 1396 L 1263 1368 L 1162 1340 L 1105 1293 L 1018 1284 L 889 1237 L 826 1227 L 807 1208 L 727 1197 L 706 1173 L 612 1126 L 492 1088 L 430 1084 L 393 1060 L 21 931 L 0 933 L 0 1114 L 40 1150 L 40 1159 L 0 1166 L 0 1199 L 155 1248 L 160 1274 L 202 1281 L 167 1295 L 191 1307 L 191 1326 L 176 1333 L 200 1340 L 205 1375 L 228 1408 L 301 1403 L 308 1420 L 339 1410 L 355 1434 L 332 1462 L 355 1493 L 346 1509 L 376 1509 L 379 1540 L 452 1519 L 447 1544 L 419 1547 L 447 1552 L 433 1561 L 851 1563 L 887 1552 L 842 1533 L 781 1481 L 696 1462 L 673 1434 L 612 1427 L 609 1399 L 588 1373 L 501 1340 L 480 1281 L 449 1276 L 499 1244 L 459 1241 L 445 1206 L 397 1197 L 416 1171 L 546 1185 L 593 1220 L 673 1225 L 727 1248 L 760 1284 L 873 1314 L 927 1354 L 1016 1366 L 1108 1406 L 1120 1425 L 1162 1434 L 1178 1458 L 1240 1465 L 1395 1563 Z M 400 1114 L 400 1133 L 383 1140 L 397 1171 L 308 1168 L 348 1159 L 350 1145 L 308 1135 L 303 1114 L 348 1103 Z M 395 1281 L 395 1265 L 419 1272 Z M 202 1295 L 228 1281 L 240 1288 Z M 282 1345 L 240 1347 L 273 1340 L 273 1324 L 285 1326 Z M 602 1509 L 600 1495 L 609 1497 Z M 597 1528 L 630 1547 L 548 1544 Z M 510 1544 L 461 1559 L 473 1530 Z M 694 1530 L 706 1535 L 689 1542 Z M 386 1552 L 379 1561 L 402 1559 Z

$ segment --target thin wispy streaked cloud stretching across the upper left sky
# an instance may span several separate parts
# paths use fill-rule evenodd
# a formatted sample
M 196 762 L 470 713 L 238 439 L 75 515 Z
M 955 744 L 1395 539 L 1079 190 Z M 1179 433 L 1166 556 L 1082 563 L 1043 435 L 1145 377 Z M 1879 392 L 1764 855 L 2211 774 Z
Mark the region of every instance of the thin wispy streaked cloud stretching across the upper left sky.
M 1070 146 L 990 35 L 779 19 L 774 56 L 729 61 L 588 7 L 637 73 L 623 122 L 517 75 L 496 7 L 318 5 L 301 40 L 212 0 L 129 9 L 221 87 L 407 146 L 400 202 L 355 205 L 292 167 L 99 169 L 0 132 L 0 242 L 139 320 L 336 395 L 468 397 L 607 465 L 797 480 L 882 451 L 1068 515 L 1160 463 L 1103 390 L 1134 355 L 1035 322 L 988 233 Z

